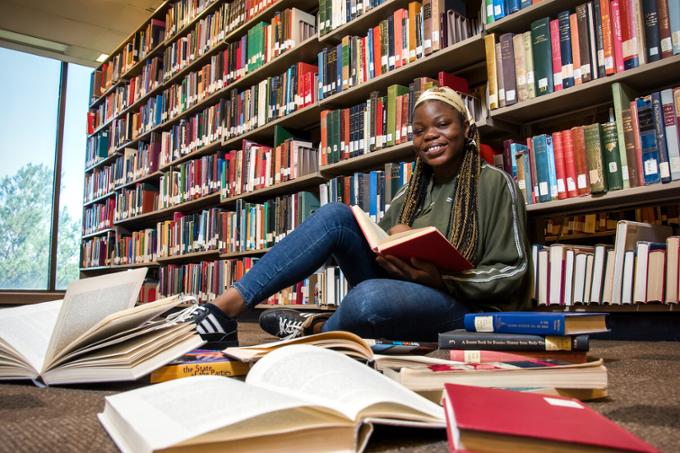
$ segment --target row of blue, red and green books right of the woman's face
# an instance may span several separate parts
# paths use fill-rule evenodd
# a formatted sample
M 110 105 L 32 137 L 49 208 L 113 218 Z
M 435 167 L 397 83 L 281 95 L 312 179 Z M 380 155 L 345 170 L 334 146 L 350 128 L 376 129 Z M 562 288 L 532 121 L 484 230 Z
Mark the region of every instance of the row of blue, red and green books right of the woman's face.
M 614 97 L 627 96 L 615 83 Z M 597 194 L 680 178 L 680 88 L 614 103 L 612 121 L 507 140 L 503 166 L 527 203 Z

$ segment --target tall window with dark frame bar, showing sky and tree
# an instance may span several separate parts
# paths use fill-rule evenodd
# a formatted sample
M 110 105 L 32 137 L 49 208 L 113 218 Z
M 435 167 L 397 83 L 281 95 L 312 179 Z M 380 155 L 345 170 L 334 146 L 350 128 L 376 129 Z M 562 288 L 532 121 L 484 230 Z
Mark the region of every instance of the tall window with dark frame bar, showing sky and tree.
M 91 69 L 3 48 L 0 67 L 0 290 L 54 291 L 78 278 Z

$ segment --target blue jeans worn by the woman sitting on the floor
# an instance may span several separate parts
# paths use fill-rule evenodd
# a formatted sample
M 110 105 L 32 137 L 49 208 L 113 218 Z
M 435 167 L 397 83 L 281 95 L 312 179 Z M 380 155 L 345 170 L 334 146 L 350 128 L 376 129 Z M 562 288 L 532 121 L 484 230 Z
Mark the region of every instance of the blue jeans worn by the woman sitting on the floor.
M 463 325 L 470 310 L 446 292 L 389 278 L 376 263 L 351 209 L 327 204 L 272 247 L 234 283 L 248 307 L 307 278 L 333 256 L 350 290 L 323 331 L 364 338 L 436 340 Z

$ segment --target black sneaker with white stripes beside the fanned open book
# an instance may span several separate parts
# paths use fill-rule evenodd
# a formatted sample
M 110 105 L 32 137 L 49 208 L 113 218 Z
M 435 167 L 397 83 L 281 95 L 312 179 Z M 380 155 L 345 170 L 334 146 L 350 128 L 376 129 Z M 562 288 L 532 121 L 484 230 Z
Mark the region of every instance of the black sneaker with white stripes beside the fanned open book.
M 202 348 L 225 349 L 238 346 L 238 323 L 213 304 L 192 305 L 167 319 L 196 324 L 196 331 L 206 341 Z

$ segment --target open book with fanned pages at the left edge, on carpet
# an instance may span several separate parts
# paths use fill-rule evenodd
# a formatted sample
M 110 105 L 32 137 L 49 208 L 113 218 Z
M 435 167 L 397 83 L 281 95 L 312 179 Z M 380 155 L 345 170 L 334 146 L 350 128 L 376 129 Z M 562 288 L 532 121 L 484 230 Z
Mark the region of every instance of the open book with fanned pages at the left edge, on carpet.
M 0 380 L 135 380 L 201 346 L 195 325 L 153 321 L 179 297 L 134 307 L 145 274 L 78 280 L 63 300 L 0 310 Z

